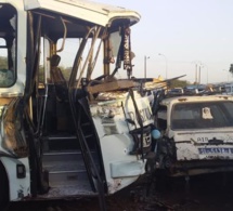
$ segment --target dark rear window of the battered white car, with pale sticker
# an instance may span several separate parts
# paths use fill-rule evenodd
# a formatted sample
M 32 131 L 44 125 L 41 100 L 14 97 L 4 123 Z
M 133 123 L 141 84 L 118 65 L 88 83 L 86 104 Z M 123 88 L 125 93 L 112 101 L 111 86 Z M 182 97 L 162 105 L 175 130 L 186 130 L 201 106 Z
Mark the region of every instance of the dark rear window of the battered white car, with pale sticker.
M 171 128 L 210 129 L 233 127 L 233 102 L 176 104 L 171 110 Z

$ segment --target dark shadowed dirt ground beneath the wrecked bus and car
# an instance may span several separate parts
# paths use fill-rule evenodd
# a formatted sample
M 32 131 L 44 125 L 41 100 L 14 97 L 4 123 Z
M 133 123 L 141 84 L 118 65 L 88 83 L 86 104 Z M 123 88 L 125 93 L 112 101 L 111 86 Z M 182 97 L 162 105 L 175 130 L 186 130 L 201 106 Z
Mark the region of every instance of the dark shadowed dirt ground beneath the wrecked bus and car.
M 150 188 L 148 188 L 150 187 Z M 107 197 L 107 211 L 232 211 L 233 173 L 143 180 Z M 96 198 L 11 203 L 7 211 L 99 211 Z

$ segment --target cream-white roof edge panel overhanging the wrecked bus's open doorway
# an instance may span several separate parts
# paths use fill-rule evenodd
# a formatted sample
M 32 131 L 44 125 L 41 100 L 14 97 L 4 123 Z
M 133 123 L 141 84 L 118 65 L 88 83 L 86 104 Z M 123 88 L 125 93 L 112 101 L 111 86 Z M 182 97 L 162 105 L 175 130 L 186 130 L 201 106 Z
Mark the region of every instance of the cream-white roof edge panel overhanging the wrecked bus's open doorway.
M 140 15 L 119 6 L 83 0 L 24 0 L 25 10 L 43 9 L 60 14 L 106 26 L 115 18 L 129 18 L 131 24 L 139 22 Z

